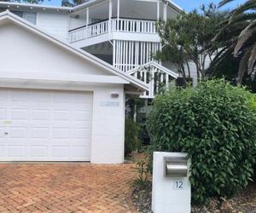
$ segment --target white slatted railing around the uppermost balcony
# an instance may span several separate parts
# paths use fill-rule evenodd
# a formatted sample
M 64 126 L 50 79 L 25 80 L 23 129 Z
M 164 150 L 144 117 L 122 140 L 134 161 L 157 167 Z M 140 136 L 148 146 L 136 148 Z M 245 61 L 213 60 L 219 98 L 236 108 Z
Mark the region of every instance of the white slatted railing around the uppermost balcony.
M 130 19 L 112 19 L 102 22 L 82 26 L 68 32 L 70 43 L 81 41 L 90 37 L 96 37 L 107 32 L 138 32 L 138 33 L 156 33 L 155 21 L 153 20 L 130 20 Z

